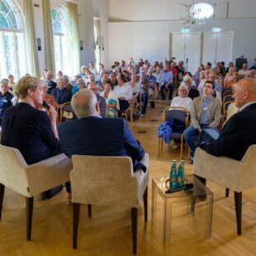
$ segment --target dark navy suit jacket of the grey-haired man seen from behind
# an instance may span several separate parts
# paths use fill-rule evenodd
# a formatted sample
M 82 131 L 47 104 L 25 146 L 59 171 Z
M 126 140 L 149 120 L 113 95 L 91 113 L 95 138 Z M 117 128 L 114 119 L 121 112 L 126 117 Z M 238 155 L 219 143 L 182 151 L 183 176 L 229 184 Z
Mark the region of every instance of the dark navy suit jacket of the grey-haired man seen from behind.
M 130 156 L 134 170 L 146 171 L 140 164 L 145 151 L 123 119 L 90 116 L 64 122 L 58 130 L 60 145 L 68 157 L 73 154 Z

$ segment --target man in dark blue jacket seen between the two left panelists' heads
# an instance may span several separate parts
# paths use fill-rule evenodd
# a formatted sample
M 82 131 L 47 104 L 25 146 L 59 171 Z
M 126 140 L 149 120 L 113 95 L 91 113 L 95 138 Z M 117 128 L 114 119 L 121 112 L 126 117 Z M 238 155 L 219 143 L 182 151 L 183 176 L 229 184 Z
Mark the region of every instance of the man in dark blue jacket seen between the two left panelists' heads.
M 58 79 L 58 87 L 51 90 L 51 95 L 55 97 L 55 101 L 61 105 L 66 102 L 70 102 L 72 93 L 67 88 L 65 88 L 65 79 Z

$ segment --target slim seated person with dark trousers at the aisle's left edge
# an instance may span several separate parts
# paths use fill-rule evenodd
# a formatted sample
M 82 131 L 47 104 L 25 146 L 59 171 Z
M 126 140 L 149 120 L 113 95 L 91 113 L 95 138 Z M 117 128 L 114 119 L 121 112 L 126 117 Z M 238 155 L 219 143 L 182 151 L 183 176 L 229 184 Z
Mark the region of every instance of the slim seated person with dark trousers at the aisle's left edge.
M 146 108 L 147 108 L 148 99 L 149 99 L 149 80 L 146 78 L 145 68 L 140 68 L 139 86 L 140 86 L 140 96 L 142 101 L 140 116 L 145 117 Z

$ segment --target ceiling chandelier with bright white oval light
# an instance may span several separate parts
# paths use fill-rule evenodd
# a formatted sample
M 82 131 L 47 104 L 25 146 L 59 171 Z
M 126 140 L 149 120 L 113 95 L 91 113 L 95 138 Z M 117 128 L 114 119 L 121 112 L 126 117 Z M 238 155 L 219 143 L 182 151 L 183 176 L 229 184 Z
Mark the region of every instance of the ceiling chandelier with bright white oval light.
M 192 5 L 179 3 L 179 5 L 186 7 L 185 17 L 180 17 L 183 24 L 197 24 L 201 25 L 206 22 L 207 19 L 213 16 L 216 4 L 212 7 L 211 4 L 206 2 L 195 3 L 193 0 Z

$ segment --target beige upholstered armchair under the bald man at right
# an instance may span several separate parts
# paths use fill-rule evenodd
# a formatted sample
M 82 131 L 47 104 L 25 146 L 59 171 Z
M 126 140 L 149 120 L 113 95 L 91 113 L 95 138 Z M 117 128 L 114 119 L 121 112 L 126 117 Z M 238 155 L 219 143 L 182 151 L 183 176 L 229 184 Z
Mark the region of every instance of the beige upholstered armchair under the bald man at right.
M 197 148 L 193 173 L 226 187 L 226 197 L 230 189 L 234 191 L 237 234 L 241 235 L 242 192 L 256 185 L 256 145 L 249 146 L 241 161 L 216 157 Z

